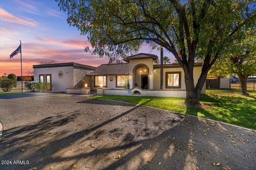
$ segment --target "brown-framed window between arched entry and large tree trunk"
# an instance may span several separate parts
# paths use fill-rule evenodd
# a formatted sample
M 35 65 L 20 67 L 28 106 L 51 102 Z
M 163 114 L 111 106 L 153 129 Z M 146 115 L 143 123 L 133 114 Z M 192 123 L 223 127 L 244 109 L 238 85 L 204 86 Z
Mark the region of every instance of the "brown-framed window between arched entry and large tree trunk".
M 165 75 L 165 88 L 181 88 L 181 72 L 166 72 Z

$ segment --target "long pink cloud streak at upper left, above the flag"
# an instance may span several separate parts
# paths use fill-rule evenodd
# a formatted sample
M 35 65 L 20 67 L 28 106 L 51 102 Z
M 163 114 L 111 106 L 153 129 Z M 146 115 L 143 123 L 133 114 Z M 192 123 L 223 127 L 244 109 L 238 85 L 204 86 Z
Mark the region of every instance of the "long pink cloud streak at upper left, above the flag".
M 32 27 L 36 27 L 38 25 L 37 22 L 35 22 L 31 19 L 19 18 L 18 16 L 12 15 L 9 12 L 5 11 L 3 8 L 0 8 L 0 15 L 1 15 L 0 20 L 2 20 L 2 21 L 19 23 L 22 25 L 28 25 L 28 26 L 32 26 Z

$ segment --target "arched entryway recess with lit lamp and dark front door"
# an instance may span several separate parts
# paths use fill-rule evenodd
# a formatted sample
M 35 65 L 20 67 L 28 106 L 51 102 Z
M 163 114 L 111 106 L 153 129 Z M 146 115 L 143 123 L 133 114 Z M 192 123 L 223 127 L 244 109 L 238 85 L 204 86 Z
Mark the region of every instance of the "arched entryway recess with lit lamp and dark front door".
M 149 89 L 149 69 L 145 64 L 138 64 L 133 69 L 133 87 Z

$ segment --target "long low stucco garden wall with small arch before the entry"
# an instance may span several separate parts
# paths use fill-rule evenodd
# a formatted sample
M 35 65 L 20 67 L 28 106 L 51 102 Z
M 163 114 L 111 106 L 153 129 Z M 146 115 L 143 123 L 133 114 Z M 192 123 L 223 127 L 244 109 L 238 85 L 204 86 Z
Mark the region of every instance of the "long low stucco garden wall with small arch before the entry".
M 166 90 L 148 90 L 141 88 L 133 89 L 97 89 L 97 95 L 120 95 L 120 96 L 156 96 L 156 97 L 186 97 L 186 90 L 166 89 Z

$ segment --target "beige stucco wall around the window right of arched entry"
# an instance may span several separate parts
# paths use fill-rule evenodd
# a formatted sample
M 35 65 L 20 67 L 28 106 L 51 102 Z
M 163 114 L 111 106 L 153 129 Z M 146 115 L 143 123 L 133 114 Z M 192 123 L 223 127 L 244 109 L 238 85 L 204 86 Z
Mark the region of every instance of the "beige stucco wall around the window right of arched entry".
M 154 89 L 158 90 L 160 89 L 160 69 L 154 69 Z M 201 74 L 201 70 L 202 70 L 202 67 L 194 67 L 194 81 L 195 81 L 195 85 L 197 83 L 197 80 L 199 79 L 199 76 Z M 177 67 L 177 68 L 164 68 L 163 70 L 163 89 L 166 89 L 165 87 L 165 73 L 166 72 L 181 72 L 181 88 L 180 89 L 183 89 L 183 90 L 186 90 L 186 85 L 185 85 L 185 74 L 184 74 L 184 71 L 181 67 Z M 204 83 L 204 86 L 203 86 L 203 89 L 202 89 L 202 94 L 205 94 L 205 89 L 206 89 L 206 86 L 205 86 L 205 83 Z

